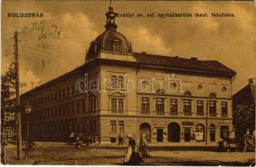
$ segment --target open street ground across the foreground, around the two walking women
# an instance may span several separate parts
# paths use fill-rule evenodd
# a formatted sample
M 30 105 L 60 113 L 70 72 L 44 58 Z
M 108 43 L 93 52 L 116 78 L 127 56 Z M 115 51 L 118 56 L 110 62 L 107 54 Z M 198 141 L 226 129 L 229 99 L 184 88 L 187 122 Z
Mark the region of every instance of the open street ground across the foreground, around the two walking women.
M 17 160 L 16 146 L 8 144 L 8 164 L 109 164 L 121 165 L 127 146 L 90 145 L 75 148 L 64 143 L 37 143 L 28 159 Z M 166 149 L 162 149 L 166 148 Z M 170 148 L 170 147 L 169 147 Z M 181 147 L 183 148 L 183 147 Z M 184 148 L 183 148 L 184 149 Z M 151 149 L 151 158 L 143 165 L 255 165 L 253 152 L 217 152 L 212 150 L 183 150 L 159 147 Z M 24 151 L 23 151 L 24 156 Z

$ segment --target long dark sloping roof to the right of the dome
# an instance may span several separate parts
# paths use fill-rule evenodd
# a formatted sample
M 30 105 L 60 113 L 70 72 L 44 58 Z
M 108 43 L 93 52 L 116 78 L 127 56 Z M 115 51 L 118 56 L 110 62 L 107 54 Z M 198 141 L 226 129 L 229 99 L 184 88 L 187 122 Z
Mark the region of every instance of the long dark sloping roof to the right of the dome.
M 134 53 L 134 56 L 142 65 L 156 65 L 167 68 L 227 73 L 231 75 L 235 74 L 232 69 L 215 60 L 197 60 L 197 58 L 178 58 L 146 53 Z

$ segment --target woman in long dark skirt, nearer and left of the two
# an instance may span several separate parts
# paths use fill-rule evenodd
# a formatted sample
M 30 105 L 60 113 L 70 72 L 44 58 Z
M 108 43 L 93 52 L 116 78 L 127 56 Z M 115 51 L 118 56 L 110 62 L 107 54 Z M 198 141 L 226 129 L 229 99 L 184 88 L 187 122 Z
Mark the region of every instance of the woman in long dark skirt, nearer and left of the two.
M 131 134 L 128 134 L 127 137 L 129 139 L 129 146 L 125 157 L 125 164 L 139 165 L 143 162 L 143 159 L 141 158 L 141 154 L 136 147 L 136 140 Z

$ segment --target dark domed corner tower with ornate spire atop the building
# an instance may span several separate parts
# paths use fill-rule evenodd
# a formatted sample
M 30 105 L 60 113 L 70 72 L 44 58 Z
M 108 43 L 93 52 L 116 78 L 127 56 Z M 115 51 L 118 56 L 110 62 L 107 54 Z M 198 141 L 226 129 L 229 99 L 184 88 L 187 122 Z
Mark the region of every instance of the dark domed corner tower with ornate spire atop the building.
M 123 34 L 116 31 L 115 15 L 116 13 L 110 5 L 109 12 L 105 13 L 105 32 L 90 43 L 89 51 L 86 53 L 86 61 L 99 58 L 100 53 L 131 55 L 131 42 Z

